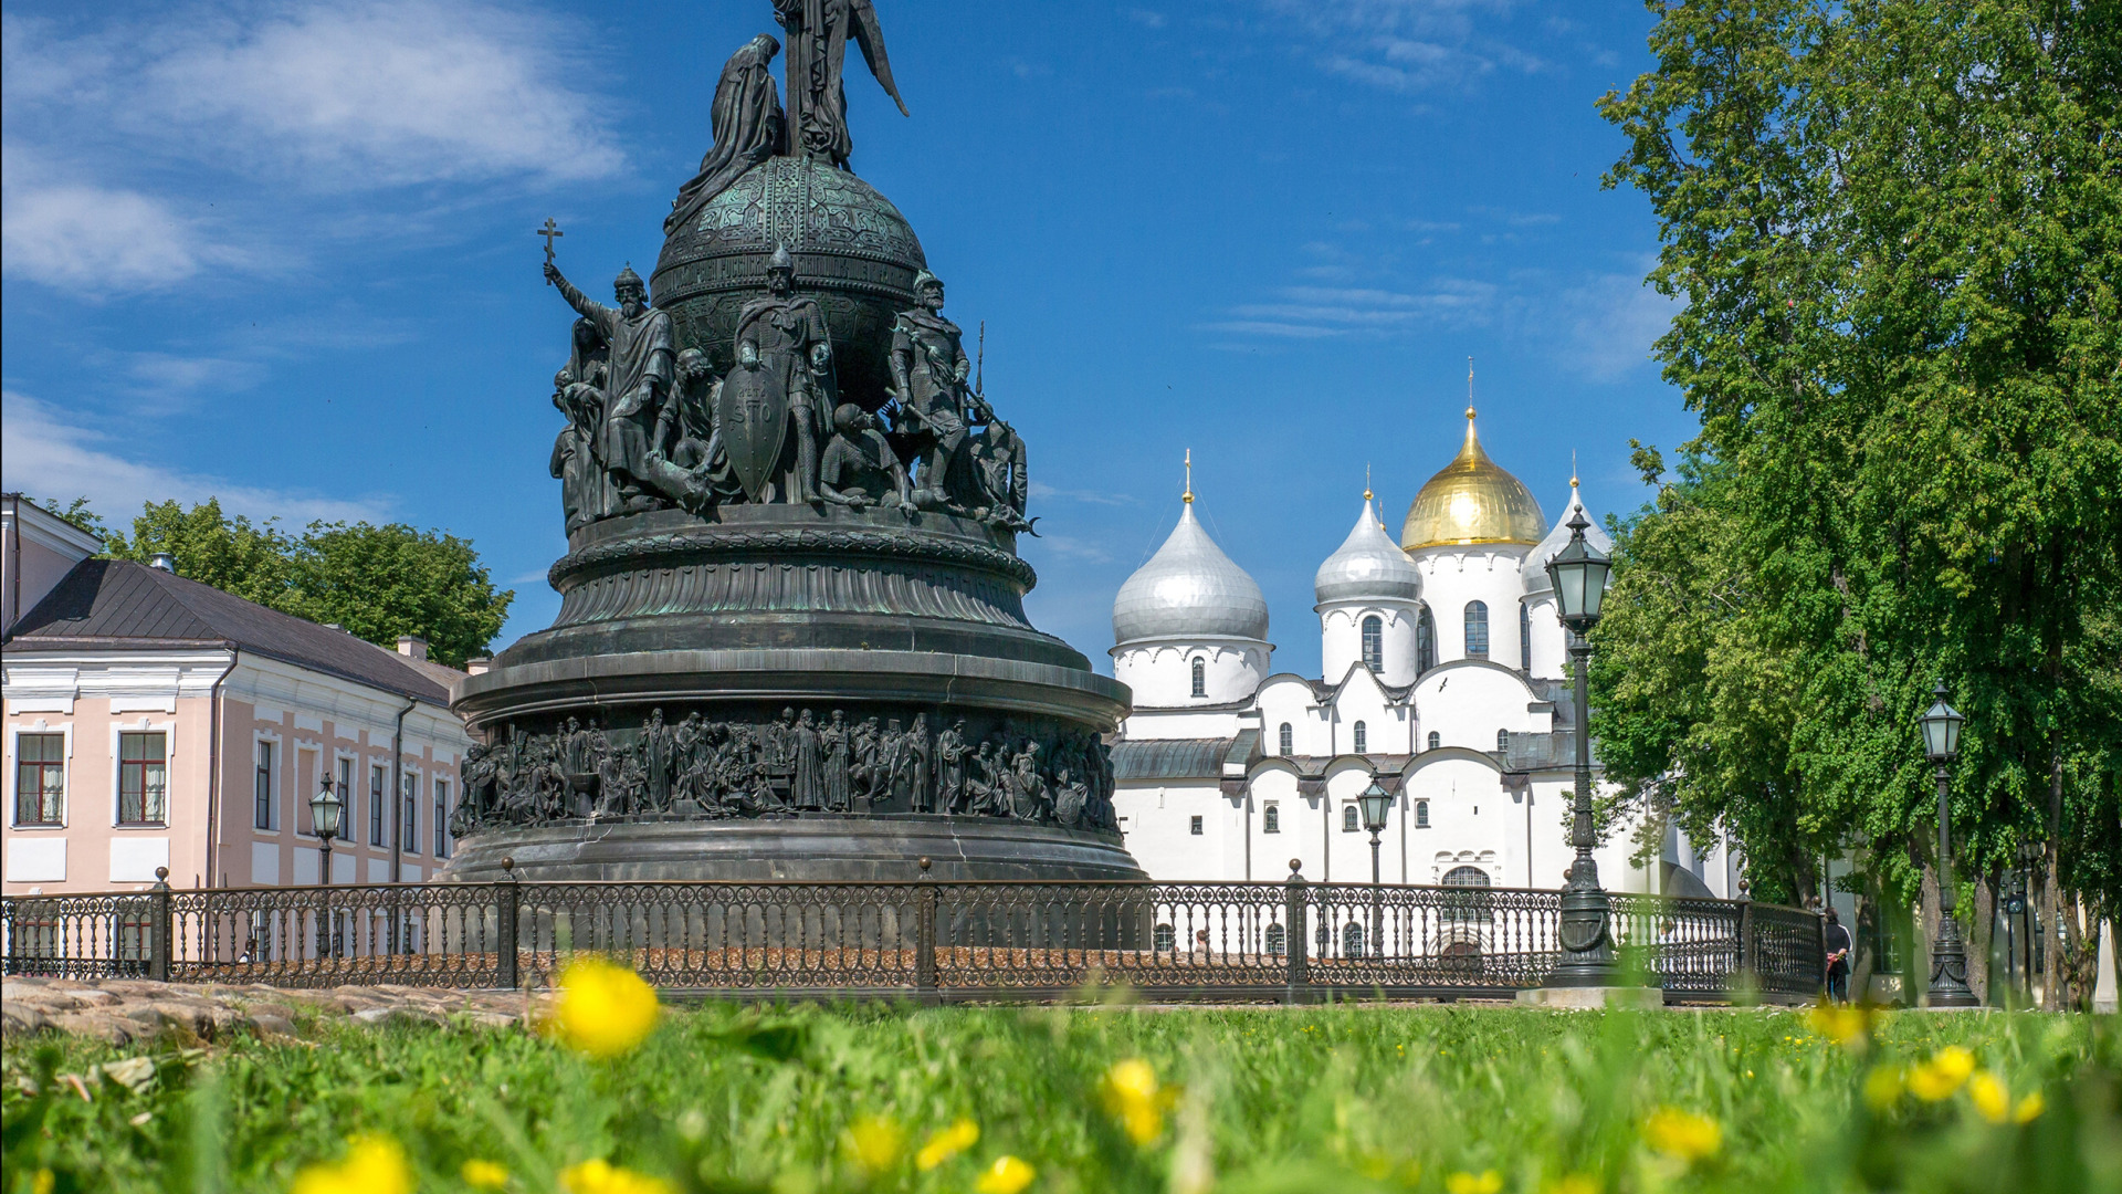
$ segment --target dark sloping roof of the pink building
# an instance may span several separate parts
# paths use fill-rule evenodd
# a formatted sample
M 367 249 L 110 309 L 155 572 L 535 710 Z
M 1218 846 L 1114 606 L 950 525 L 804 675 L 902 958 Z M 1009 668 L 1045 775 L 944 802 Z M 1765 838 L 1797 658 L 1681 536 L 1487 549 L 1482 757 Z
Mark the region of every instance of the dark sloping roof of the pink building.
M 85 559 L 15 622 L 6 650 L 236 646 L 356 684 L 450 703 L 458 671 L 420 663 L 346 631 L 267 610 L 125 559 Z

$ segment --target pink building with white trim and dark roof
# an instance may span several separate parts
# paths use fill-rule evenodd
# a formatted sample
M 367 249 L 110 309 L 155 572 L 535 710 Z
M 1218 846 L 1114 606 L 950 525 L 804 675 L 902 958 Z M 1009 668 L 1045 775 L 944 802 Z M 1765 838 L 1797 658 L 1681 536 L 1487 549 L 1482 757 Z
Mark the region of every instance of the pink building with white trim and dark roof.
M 316 884 L 310 797 L 346 801 L 335 884 L 420 882 L 450 856 L 471 739 L 463 671 L 390 652 L 166 567 L 4 497 L 0 890 Z M 397 792 L 397 799 L 390 795 Z

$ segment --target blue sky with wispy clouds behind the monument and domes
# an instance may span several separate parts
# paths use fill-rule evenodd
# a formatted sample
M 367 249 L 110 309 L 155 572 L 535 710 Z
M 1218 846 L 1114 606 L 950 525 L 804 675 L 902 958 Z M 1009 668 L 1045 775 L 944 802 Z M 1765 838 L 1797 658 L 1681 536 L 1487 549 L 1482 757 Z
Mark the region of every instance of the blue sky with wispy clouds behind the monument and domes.
M 1636 4 L 876 0 L 912 117 L 851 57 L 855 172 L 987 321 L 1031 446 L 1033 620 L 1110 671 L 1120 580 L 1178 514 L 1316 673 L 1311 574 L 1364 467 L 1398 531 L 1481 438 L 1553 516 L 1642 501 L 1693 433 L 1647 353 L 1645 200 L 1594 113 Z M 471 538 L 543 627 L 569 310 L 647 272 L 766 0 L 4 6 L 4 484 Z

